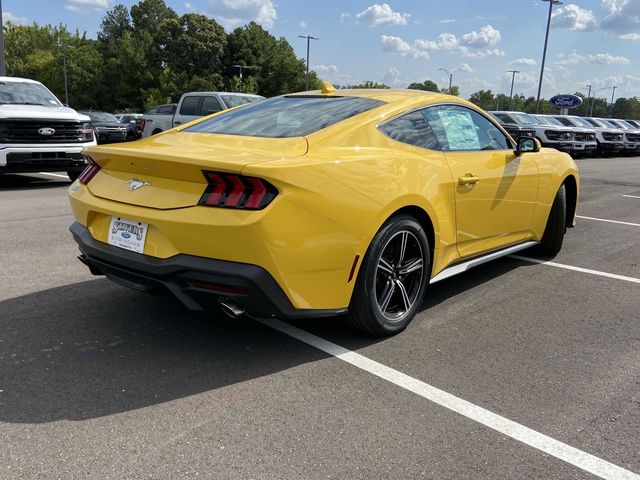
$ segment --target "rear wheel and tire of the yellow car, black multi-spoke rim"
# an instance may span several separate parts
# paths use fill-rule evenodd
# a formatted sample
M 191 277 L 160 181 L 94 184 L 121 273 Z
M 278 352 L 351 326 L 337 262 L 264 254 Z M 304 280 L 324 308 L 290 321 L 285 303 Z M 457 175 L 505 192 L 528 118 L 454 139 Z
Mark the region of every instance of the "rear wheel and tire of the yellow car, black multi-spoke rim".
M 431 271 L 430 252 L 427 235 L 415 218 L 389 219 L 364 256 L 347 322 L 375 336 L 404 330 L 422 305 Z

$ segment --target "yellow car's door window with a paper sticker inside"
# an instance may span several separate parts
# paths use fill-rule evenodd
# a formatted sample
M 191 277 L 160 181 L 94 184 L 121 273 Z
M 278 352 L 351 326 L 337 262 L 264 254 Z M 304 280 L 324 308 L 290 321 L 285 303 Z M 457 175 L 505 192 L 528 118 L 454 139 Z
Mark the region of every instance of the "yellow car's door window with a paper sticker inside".
M 508 150 L 509 140 L 478 112 L 458 105 L 422 110 L 442 150 Z

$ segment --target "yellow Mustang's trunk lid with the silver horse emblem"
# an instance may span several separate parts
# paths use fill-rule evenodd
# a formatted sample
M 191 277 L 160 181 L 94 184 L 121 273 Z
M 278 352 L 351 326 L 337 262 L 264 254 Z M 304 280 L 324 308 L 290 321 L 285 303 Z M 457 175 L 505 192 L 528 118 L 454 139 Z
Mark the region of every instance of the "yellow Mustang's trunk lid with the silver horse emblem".
M 101 167 L 87 187 L 94 195 L 158 209 L 197 205 L 203 170 L 241 174 L 250 164 L 307 153 L 307 141 L 167 132 L 134 143 L 85 150 Z

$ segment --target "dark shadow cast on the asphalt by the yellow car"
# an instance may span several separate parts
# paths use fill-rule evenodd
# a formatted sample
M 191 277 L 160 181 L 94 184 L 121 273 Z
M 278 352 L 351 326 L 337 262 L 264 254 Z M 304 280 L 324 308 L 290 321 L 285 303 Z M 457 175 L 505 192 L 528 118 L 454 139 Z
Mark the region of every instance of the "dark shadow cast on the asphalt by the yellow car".
M 502 260 L 435 284 L 422 310 L 521 265 Z M 251 319 L 191 312 L 106 279 L 7 299 L 0 312 L 0 422 L 97 418 L 327 358 Z M 385 340 L 338 319 L 293 324 L 352 350 Z

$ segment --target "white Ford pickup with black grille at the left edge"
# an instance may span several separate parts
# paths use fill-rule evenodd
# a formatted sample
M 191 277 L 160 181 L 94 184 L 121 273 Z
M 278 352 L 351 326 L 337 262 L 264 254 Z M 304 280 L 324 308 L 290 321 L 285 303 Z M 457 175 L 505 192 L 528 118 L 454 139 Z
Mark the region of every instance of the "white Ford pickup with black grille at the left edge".
M 95 145 L 90 118 L 62 105 L 42 83 L 0 77 L 0 174 L 85 167 L 81 151 Z

